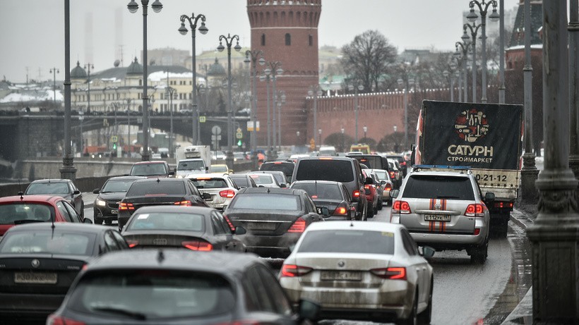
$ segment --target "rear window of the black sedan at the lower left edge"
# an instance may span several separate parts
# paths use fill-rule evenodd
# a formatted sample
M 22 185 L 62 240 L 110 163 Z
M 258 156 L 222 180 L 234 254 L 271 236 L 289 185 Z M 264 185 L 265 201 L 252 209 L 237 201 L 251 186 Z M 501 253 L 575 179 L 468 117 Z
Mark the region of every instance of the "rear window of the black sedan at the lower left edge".
M 0 253 L 92 255 L 94 242 L 95 235 L 89 233 L 15 232 L 4 236 L 0 243 Z

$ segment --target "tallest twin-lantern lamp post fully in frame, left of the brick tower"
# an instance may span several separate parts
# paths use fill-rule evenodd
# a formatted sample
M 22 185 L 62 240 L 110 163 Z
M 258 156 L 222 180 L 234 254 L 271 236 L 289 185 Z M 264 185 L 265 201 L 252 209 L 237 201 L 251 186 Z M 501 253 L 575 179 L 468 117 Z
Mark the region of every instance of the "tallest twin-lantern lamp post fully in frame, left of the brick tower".
M 199 106 L 197 104 L 197 68 L 196 68 L 196 53 L 195 53 L 195 34 L 197 29 L 197 21 L 201 18 L 201 27 L 199 27 L 199 32 L 205 35 L 208 32 L 208 28 L 205 27 L 205 16 L 203 14 L 198 14 L 195 16 L 195 13 L 191 13 L 191 16 L 181 15 L 181 27 L 179 27 L 179 32 L 181 35 L 187 34 L 187 27 L 185 27 L 185 20 L 189 21 L 189 28 L 191 28 L 191 70 L 193 71 L 193 90 L 191 90 L 191 103 L 193 106 L 193 115 L 195 116 L 195 121 L 193 121 L 193 137 L 191 137 L 191 142 L 193 145 L 201 145 L 199 140 L 200 138 L 200 130 L 199 130 Z

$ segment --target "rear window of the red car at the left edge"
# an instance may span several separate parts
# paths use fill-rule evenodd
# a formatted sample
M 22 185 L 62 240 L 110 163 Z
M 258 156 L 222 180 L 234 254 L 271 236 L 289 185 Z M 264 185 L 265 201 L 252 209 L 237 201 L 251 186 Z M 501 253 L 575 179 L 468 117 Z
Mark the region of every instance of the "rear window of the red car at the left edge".
M 54 207 L 42 203 L 11 203 L 0 205 L 0 224 L 13 225 L 27 221 L 51 221 Z

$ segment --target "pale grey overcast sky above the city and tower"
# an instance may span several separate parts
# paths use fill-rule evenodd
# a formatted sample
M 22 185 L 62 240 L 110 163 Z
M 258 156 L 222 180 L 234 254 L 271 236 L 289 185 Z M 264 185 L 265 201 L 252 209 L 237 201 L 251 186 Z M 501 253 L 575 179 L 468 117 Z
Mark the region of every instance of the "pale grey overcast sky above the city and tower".
M 505 9 L 518 0 L 504 0 Z M 141 1 L 137 1 L 141 4 Z M 250 26 L 246 0 L 161 0 L 160 13 L 148 14 L 148 48 L 172 47 L 191 51 L 191 35 L 177 32 L 181 14 L 203 13 L 207 35 L 196 35 L 197 53 L 213 50 L 219 35 L 241 37 L 249 47 Z M 95 71 L 112 68 L 116 59 L 124 66 L 140 58 L 143 48 L 141 8 L 129 13 L 129 0 L 70 0 L 71 68 L 93 63 Z M 153 3 L 153 0 L 150 0 Z M 454 49 L 462 35 L 462 12 L 468 0 L 322 0 L 318 26 L 320 46 L 341 47 L 366 30 L 379 30 L 398 51 L 404 49 Z M 187 25 L 189 27 L 189 25 Z M 64 1 L 3 0 L 0 11 L 0 75 L 12 82 L 29 78 L 52 80 L 50 68 L 64 80 Z

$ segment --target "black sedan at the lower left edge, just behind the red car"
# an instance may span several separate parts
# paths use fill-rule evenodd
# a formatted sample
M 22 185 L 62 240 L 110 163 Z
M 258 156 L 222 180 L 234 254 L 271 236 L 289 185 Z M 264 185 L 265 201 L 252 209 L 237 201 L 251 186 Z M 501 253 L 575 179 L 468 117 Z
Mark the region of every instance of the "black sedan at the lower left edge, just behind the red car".
M 0 322 L 44 323 L 92 257 L 126 248 L 121 234 L 105 226 L 43 222 L 10 228 L 0 242 Z

